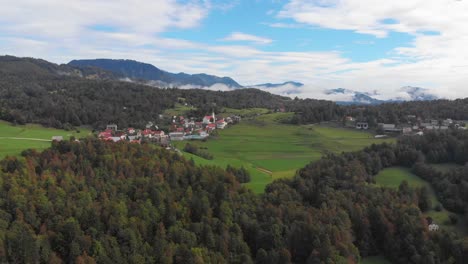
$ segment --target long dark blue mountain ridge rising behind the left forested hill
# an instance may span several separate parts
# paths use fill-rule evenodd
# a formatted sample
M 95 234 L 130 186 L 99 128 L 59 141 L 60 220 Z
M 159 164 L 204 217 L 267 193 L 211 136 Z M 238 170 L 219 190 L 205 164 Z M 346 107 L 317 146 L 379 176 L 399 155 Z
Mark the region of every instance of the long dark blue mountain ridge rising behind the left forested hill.
M 74 67 L 99 67 L 114 72 L 132 80 L 144 80 L 162 86 L 194 85 L 209 87 L 214 84 L 224 84 L 231 88 L 242 88 L 242 86 L 230 77 L 218 77 L 205 73 L 187 74 L 171 73 L 157 68 L 154 65 L 134 60 L 72 60 L 68 65 Z

